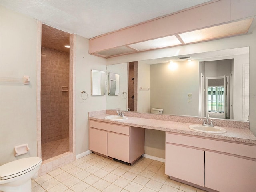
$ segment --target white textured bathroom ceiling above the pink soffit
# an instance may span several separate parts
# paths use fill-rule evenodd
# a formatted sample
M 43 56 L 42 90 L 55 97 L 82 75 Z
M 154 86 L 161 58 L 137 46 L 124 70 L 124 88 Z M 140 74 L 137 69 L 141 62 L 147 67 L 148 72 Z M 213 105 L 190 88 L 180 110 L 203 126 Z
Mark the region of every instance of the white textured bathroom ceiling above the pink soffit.
M 0 0 L 59 30 L 93 38 L 210 0 Z

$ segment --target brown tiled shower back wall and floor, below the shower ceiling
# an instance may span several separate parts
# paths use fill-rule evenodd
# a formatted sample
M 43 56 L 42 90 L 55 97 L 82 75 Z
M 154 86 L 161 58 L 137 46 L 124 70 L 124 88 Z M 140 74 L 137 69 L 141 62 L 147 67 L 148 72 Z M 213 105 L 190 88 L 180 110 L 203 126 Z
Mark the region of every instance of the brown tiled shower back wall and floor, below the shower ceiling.
M 42 159 L 69 151 L 69 53 L 41 52 Z

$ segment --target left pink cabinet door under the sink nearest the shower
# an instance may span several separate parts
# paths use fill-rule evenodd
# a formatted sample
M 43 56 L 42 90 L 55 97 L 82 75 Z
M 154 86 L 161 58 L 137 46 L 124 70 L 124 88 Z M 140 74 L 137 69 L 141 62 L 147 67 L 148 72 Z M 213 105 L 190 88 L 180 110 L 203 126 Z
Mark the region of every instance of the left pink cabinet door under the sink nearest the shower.
M 89 128 L 89 149 L 107 155 L 107 132 Z

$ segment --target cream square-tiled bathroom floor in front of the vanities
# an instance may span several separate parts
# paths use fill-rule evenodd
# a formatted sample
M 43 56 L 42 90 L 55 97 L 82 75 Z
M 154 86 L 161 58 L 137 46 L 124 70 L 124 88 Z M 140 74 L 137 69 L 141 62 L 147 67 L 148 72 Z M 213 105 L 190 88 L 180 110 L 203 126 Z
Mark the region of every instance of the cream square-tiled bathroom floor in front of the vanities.
M 32 192 L 205 192 L 171 180 L 164 166 L 144 157 L 129 166 L 92 153 L 32 180 Z

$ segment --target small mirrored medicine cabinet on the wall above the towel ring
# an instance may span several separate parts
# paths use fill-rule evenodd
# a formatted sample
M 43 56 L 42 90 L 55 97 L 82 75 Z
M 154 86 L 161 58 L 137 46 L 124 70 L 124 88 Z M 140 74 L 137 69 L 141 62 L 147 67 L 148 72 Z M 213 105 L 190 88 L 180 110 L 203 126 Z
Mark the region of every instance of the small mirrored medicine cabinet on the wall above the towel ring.
M 106 94 L 106 72 L 92 69 L 92 95 Z

